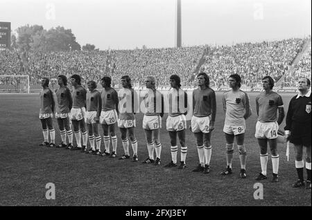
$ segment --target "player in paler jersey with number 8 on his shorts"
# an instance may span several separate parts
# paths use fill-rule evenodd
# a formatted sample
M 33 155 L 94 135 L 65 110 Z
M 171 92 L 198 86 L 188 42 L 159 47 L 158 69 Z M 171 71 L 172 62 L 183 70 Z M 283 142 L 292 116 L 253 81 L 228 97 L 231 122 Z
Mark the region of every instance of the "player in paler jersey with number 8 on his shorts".
M 245 120 L 251 115 L 249 98 L 247 93 L 241 91 L 241 77 L 238 74 L 229 76 L 230 91 L 223 93 L 223 109 L 225 111 L 225 122 L 223 132 L 227 142 L 227 169 L 221 175 L 232 174 L 232 160 L 234 152 L 234 138 L 239 148 L 239 160 L 241 161 L 241 178 L 246 178 L 246 149 Z

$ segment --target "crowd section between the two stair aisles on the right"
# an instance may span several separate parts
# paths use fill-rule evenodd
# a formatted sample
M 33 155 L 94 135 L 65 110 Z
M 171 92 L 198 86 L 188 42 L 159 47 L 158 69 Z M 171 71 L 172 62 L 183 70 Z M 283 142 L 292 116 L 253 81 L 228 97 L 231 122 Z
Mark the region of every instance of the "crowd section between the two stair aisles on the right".
M 261 86 L 261 79 L 270 75 L 277 82 L 290 68 L 306 39 L 243 43 L 234 46 L 209 47 L 201 70 L 209 73 L 213 86 L 227 86 L 227 77 L 237 73 L 242 84 Z

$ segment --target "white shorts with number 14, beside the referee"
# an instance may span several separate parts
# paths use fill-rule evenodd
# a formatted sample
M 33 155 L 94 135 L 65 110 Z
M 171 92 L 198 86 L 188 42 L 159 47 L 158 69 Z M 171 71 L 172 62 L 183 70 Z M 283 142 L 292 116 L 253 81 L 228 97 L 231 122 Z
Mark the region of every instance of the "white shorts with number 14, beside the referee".
M 277 122 L 257 122 L 256 124 L 256 138 L 277 138 L 277 131 L 279 130 L 279 124 Z

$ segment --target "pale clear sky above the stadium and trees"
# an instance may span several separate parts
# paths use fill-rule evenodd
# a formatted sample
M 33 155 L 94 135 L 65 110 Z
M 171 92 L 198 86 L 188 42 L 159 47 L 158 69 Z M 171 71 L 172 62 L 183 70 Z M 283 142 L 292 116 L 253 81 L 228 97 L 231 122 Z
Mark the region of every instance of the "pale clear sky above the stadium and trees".
M 311 35 L 311 0 L 181 0 L 182 46 Z M 100 50 L 175 46 L 176 0 L 0 0 L 0 21 L 71 29 Z

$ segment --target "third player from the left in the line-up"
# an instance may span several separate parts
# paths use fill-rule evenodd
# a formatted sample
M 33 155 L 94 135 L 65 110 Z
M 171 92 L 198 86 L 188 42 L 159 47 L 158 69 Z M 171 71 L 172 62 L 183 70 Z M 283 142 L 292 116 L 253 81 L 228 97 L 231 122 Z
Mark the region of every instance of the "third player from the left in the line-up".
M 87 147 L 88 134 L 85 128 L 85 99 L 87 91 L 81 85 L 81 78 L 79 75 L 71 75 L 71 85 L 73 91 L 71 97 L 73 98 L 73 108 L 71 109 L 71 122 L 73 122 L 73 132 L 76 138 L 76 147 L 72 147 L 71 150 L 85 151 Z M 81 133 L 83 134 L 83 147 L 81 147 Z

